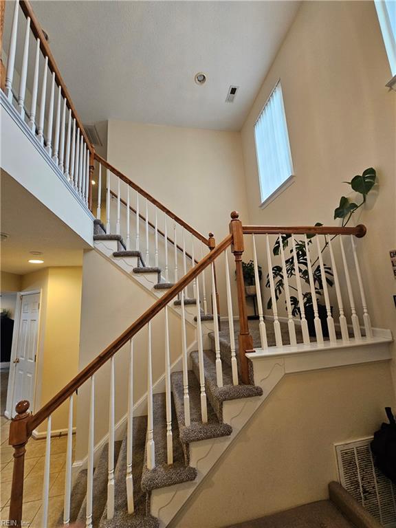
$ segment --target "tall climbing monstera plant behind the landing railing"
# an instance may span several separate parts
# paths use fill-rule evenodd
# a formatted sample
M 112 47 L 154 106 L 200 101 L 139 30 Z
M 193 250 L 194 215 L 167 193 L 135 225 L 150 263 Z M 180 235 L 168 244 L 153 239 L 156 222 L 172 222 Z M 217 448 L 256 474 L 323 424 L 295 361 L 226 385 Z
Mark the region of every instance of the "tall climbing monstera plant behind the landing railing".
M 373 188 L 375 181 L 376 181 L 377 175 L 375 173 L 374 168 L 366 168 L 362 175 L 355 176 L 351 181 L 344 181 L 345 184 L 348 184 L 351 186 L 352 190 L 358 193 L 358 195 L 362 196 L 362 201 L 359 203 L 359 205 L 353 201 L 351 201 L 349 198 L 342 196 L 340 199 L 340 204 L 334 210 L 334 219 L 341 219 L 342 220 L 342 227 L 345 227 L 349 221 L 351 220 L 352 215 L 358 210 L 360 207 L 366 203 L 366 197 Z M 316 223 L 315 225 L 323 225 L 322 223 Z M 315 234 L 307 234 L 307 241 L 308 245 L 312 244 L 312 239 L 314 239 L 316 235 Z M 335 239 L 336 236 L 334 235 L 331 240 Z M 291 234 L 283 234 L 281 235 L 281 240 L 278 238 L 276 239 L 276 242 L 274 244 L 274 248 L 272 248 L 272 252 L 274 255 L 279 255 L 281 252 L 281 241 L 283 244 L 284 250 L 286 248 L 289 248 L 289 242 L 291 242 Z M 293 249 L 289 248 L 290 256 L 286 259 L 286 273 L 287 277 L 296 276 L 296 272 L 298 272 L 298 275 L 301 278 L 301 281 L 303 283 L 306 283 L 309 286 L 309 273 L 308 273 L 308 266 L 307 266 L 307 248 L 305 247 L 305 243 L 302 240 L 294 239 L 296 244 L 296 256 L 297 256 L 297 263 L 298 263 L 298 270 L 296 270 L 294 258 L 293 258 Z M 321 253 L 325 251 L 327 248 L 327 245 L 329 243 L 326 241 L 320 250 Z M 323 336 L 328 337 L 329 336 L 329 330 L 327 328 L 327 309 L 322 301 L 323 299 L 323 282 L 322 282 L 322 274 L 320 272 L 320 264 L 319 264 L 319 258 L 317 257 L 314 261 L 311 262 L 312 267 L 312 274 L 314 276 L 314 287 L 315 287 L 315 295 L 316 295 L 316 301 L 318 304 L 318 316 L 320 318 L 321 324 L 322 324 L 322 333 Z M 331 267 L 324 263 L 325 268 L 325 279 L 327 285 L 329 287 L 333 286 L 333 272 L 331 270 Z M 272 274 L 275 279 L 275 297 L 276 300 L 278 300 L 281 297 L 281 294 L 283 294 L 285 290 L 285 284 L 283 281 L 283 268 L 282 266 L 275 265 L 272 267 Z M 270 287 L 270 278 L 267 275 L 267 283 L 266 287 Z M 296 288 L 289 284 L 289 289 L 292 289 L 294 291 L 297 291 Z M 301 316 L 301 309 L 299 305 L 299 300 L 296 296 L 291 295 L 290 296 L 290 302 L 292 304 L 292 315 L 293 316 Z M 315 325 L 314 325 L 314 307 L 312 303 L 312 296 L 311 292 L 305 292 L 303 294 L 303 304 L 304 304 L 304 310 L 305 310 L 305 318 L 307 319 L 308 329 L 309 329 L 309 335 L 315 336 Z M 267 303 L 267 309 L 272 308 L 272 298 L 270 297 L 270 300 L 268 300 Z M 332 311 L 331 307 L 331 311 Z

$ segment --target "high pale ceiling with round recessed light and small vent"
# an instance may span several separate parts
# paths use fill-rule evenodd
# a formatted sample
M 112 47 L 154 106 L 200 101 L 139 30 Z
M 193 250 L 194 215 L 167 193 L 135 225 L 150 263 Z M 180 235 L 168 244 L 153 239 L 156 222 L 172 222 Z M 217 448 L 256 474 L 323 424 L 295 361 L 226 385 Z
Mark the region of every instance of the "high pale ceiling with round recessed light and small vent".
M 83 122 L 230 130 L 241 128 L 299 5 L 33 2 Z M 230 85 L 239 86 L 233 103 L 225 102 Z

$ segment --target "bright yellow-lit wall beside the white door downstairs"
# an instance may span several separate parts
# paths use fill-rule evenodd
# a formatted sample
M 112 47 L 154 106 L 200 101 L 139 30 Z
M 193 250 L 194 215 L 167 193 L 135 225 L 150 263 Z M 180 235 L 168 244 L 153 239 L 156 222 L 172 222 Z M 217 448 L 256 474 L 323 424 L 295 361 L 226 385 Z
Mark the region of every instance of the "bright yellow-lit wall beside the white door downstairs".
M 50 267 L 22 276 L 22 292 L 41 289 L 35 410 L 78 372 L 81 280 L 81 267 Z M 43 423 L 38 430 L 45 428 Z M 67 428 L 67 406 L 54 413 L 52 428 Z

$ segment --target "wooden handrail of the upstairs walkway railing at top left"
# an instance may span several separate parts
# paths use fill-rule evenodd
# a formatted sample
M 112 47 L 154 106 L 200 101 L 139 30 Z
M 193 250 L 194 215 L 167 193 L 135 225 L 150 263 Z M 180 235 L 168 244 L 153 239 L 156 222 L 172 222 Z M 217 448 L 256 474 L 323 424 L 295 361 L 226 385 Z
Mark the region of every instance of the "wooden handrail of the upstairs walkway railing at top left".
M 78 128 L 83 134 L 84 140 L 87 143 L 89 151 L 93 153 L 94 147 L 91 145 L 91 142 L 89 141 L 88 136 L 85 133 L 83 123 L 78 117 L 78 113 L 72 102 L 72 98 L 70 97 L 69 91 L 65 85 L 65 81 L 63 80 L 61 76 L 61 72 L 59 71 L 59 68 L 56 65 L 54 56 L 52 55 L 52 52 L 50 50 L 50 46 L 48 45 L 47 40 L 45 39 L 43 30 L 41 29 L 41 25 L 39 21 L 37 20 L 36 15 L 34 14 L 32 5 L 30 5 L 30 2 L 28 0 L 20 0 L 19 5 L 21 5 L 21 10 L 23 11 L 23 14 L 25 15 L 25 17 L 26 18 L 30 17 L 30 28 L 32 29 L 32 32 L 34 36 L 36 37 L 36 39 L 40 39 L 40 49 L 43 52 L 44 56 L 48 57 L 48 66 L 50 67 L 50 70 L 54 72 L 58 85 L 61 86 L 62 95 L 66 99 L 66 104 L 69 107 L 69 109 L 72 111 L 73 117 L 76 118 L 76 123 L 78 124 Z

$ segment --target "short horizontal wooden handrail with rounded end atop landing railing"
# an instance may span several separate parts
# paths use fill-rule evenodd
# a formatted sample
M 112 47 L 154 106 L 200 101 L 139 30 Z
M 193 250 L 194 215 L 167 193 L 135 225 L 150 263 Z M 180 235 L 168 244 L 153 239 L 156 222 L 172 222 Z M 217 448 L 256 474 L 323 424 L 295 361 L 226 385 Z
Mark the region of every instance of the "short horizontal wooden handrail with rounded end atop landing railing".
M 326 225 L 243 225 L 243 234 L 354 234 L 361 239 L 366 234 L 366 226 L 356 225 L 355 228 L 337 228 Z

